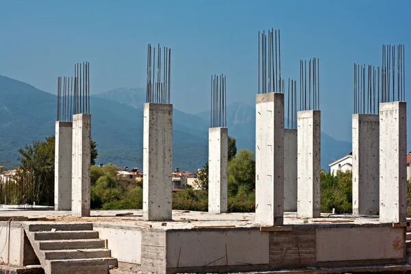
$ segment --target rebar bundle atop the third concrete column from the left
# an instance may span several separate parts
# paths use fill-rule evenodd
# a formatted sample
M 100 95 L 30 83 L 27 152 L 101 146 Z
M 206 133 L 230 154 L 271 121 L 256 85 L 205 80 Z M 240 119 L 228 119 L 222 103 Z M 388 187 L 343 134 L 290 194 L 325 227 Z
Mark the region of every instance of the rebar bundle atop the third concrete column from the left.
M 147 47 L 146 103 L 170 103 L 171 49 L 164 47 L 163 58 L 161 51 L 158 44 L 157 64 L 155 64 L 155 47 L 151 47 L 151 44 Z M 163 64 L 161 64 L 162 59 Z M 162 67 L 163 71 L 161 71 Z

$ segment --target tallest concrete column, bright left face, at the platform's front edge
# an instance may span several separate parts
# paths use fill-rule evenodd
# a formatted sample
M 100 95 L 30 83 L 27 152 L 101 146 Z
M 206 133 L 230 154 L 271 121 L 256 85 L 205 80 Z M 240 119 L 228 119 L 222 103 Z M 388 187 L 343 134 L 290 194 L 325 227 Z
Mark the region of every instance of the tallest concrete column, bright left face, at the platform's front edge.
M 284 94 L 256 96 L 256 223 L 283 225 Z

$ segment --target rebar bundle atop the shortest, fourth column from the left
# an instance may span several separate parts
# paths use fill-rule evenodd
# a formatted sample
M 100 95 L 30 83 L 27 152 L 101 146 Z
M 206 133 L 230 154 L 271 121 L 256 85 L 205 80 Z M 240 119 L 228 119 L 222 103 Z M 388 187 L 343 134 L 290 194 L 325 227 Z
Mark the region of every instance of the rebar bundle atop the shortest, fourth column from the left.
M 211 76 L 211 127 L 227 126 L 227 78 Z

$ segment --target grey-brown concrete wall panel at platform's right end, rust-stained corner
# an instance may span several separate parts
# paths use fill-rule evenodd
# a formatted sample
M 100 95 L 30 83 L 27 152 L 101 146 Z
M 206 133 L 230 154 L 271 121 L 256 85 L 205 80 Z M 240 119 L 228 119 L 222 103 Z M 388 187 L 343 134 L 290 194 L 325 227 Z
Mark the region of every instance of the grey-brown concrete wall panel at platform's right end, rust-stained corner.
M 316 229 L 316 261 L 403 258 L 403 227 L 333 227 Z

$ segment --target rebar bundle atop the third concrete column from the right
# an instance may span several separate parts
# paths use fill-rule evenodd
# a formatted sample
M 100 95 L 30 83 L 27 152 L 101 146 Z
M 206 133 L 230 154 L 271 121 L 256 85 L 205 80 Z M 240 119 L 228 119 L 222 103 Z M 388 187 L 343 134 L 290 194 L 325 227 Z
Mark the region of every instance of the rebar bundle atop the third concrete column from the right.
M 308 91 L 308 93 L 307 93 Z M 320 109 L 320 60 L 308 60 L 308 90 L 307 90 L 307 60 L 300 60 L 299 110 Z

